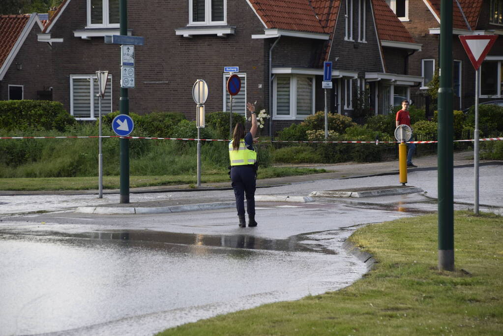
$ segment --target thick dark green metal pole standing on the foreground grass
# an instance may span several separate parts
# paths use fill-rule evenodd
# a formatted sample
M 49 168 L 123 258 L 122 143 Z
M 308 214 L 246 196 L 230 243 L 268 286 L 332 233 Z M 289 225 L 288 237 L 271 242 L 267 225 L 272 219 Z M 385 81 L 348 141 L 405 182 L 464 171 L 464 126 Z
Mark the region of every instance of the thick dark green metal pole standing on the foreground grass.
M 438 98 L 438 268 L 445 271 L 454 271 L 452 3 L 452 0 L 441 0 L 440 3 L 441 72 Z

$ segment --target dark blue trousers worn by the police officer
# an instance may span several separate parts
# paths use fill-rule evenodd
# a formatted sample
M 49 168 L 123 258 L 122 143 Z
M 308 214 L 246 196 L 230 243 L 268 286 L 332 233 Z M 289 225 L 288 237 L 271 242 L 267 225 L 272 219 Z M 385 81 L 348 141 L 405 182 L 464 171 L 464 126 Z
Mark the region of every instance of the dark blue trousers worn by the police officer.
M 244 196 L 246 195 L 246 212 L 255 216 L 255 170 L 249 165 L 234 165 L 230 169 L 230 181 L 236 197 L 238 216 L 244 216 Z

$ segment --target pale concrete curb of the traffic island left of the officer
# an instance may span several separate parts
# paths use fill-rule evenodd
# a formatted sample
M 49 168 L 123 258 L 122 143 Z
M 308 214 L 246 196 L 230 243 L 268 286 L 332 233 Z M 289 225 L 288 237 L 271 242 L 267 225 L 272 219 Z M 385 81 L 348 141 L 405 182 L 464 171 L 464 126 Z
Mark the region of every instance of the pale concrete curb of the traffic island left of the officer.
M 202 204 L 188 204 L 188 205 L 173 205 L 169 207 L 155 207 L 155 208 L 119 208 L 119 207 L 78 207 L 74 212 L 79 213 L 92 213 L 101 215 L 136 215 L 136 214 L 158 214 L 158 213 L 176 213 L 187 211 L 201 211 L 211 209 L 225 209 L 236 206 L 235 201 L 229 202 L 214 202 Z

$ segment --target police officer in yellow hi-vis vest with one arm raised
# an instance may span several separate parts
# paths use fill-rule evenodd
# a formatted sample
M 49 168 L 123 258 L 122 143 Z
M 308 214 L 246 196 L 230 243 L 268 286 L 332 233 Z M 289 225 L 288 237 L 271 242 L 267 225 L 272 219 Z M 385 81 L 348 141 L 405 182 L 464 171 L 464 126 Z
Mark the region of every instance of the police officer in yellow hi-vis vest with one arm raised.
M 236 197 L 237 216 L 239 227 L 246 227 L 244 217 L 244 196 L 246 196 L 246 212 L 248 213 L 248 226 L 257 226 L 255 221 L 255 189 L 257 180 L 257 152 L 253 147 L 258 138 L 257 115 L 255 106 L 246 104 L 251 113 L 251 128 L 246 135 L 244 125 L 237 123 L 229 142 L 230 180 Z

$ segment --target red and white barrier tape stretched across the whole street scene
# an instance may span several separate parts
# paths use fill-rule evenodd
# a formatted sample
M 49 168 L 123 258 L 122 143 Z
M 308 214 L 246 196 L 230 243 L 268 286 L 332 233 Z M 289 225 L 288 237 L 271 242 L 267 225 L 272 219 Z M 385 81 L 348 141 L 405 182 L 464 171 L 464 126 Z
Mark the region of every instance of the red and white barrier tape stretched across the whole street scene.
M 0 139 L 66 139 L 66 138 L 99 138 L 100 136 L 2 136 Z M 152 138 L 144 136 L 118 136 L 104 135 L 102 138 L 123 138 L 123 139 L 150 139 L 150 140 L 198 140 L 193 138 Z M 201 141 L 230 141 L 228 139 L 199 139 Z M 498 141 L 503 140 L 503 137 L 497 138 L 482 138 L 479 141 Z M 475 141 L 475 139 L 454 140 L 454 142 Z M 259 142 L 292 142 L 292 143 L 399 143 L 398 141 L 294 141 L 294 140 L 259 140 Z M 438 143 L 438 141 L 409 141 L 407 143 Z

